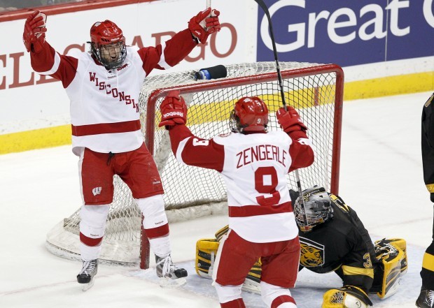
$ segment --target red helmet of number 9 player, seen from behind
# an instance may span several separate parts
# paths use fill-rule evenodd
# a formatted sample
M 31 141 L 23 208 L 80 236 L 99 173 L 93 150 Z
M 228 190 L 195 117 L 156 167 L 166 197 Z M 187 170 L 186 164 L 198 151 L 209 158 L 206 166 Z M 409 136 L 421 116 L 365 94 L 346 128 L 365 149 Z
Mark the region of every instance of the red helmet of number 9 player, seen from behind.
M 229 126 L 231 131 L 244 133 L 248 131 L 267 131 L 268 108 L 256 96 L 243 97 L 235 103 L 230 114 Z

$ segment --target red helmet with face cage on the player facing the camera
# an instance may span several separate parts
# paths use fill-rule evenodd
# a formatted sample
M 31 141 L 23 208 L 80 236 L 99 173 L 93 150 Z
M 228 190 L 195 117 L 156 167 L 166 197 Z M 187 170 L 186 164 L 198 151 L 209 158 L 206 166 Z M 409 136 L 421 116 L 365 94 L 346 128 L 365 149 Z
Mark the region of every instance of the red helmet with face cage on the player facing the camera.
M 127 57 L 122 30 L 110 20 L 95 22 L 90 28 L 90 52 L 107 70 L 120 67 Z

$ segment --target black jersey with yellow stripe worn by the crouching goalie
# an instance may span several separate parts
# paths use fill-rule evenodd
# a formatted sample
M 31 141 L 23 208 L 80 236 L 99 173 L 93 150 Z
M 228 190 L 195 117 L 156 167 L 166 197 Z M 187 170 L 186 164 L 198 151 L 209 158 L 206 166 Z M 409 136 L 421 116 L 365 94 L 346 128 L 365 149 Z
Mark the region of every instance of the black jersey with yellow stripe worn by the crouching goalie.
M 334 219 L 308 233 L 300 231 L 300 268 L 325 273 L 335 271 L 344 285 L 369 291 L 374 279 L 374 245 L 357 214 L 338 196 L 330 194 Z

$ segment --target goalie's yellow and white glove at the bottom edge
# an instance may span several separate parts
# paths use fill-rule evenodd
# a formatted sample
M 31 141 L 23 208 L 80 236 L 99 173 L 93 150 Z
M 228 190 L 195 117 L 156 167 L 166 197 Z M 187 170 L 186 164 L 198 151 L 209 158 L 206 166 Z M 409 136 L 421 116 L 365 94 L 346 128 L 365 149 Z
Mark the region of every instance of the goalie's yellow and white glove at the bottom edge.
M 324 293 L 322 308 L 367 308 L 372 302 L 362 289 L 344 286 Z

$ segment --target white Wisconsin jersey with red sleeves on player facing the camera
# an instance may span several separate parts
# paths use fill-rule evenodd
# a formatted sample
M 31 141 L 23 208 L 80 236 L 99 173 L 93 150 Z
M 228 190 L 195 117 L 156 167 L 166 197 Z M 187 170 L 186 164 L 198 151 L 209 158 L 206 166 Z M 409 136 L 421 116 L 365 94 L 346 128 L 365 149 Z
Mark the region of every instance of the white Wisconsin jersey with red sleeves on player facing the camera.
M 184 59 L 197 43 L 188 29 L 157 47 L 127 47 L 122 66 L 107 71 L 89 52 L 61 55 L 48 44 L 31 65 L 41 75 L 62 81 L 69 96 L 73 153 L 87 147 L 100 153 L 129 152 L 144 142 L 139 120 L 139 93 L 154 68 Z

